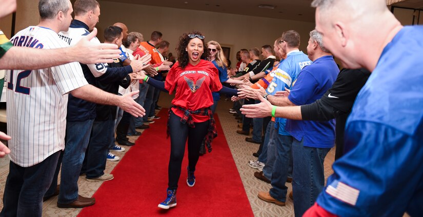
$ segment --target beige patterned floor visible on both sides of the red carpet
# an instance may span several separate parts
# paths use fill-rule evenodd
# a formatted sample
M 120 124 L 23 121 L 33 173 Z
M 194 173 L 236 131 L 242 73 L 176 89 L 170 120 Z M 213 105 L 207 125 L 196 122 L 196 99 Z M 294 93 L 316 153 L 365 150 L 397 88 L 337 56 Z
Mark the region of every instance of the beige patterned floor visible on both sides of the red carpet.
M 170 106 L 171 97 L 162 93 L 160 95 L 159 105 L 163 107 Z M 257 198 L 258 191 L 268 191 L 271 187 L 270 184 L 267 184 L 263 181 L 256 179 L 253 173 L 257 170 L 249 167 L 247 165 L 249 160 L 256 160 L 251 154 L 258 149 L 258 144 L 248 143 L 245 141 L 244 135 L 236 133 L 237 122 L 234 119 L 233 115 L 228 112 L 229 108 L 232 107 L 230 101 L 226 102 L 220 100 L 216 113 L 219 116 L 220 123 L 225 132 L 225 136 L 229 147 L 232 152 L 233 159 L 238 168 L 239 174 L 243 181 L 245 191 L 247 193 L 248 199 L 251 204 L 251 208 L 255 216 L 294 216 L 293 201 L 287 199 L 286 206 L 280 207 L 274 204 L 266 203 Z M 163 118 L 163 117 L 162 117 Z M 137 139 L 137 136 L 130 136 L 130 141 L 134 142 Z M 123 157 L 125 153 L 130 149 L 130 147 L 125 147 L 127 150 L 125 152 L 115 152 L 119 157 Z M 328 153 L 325 159 L 325 176 L 329 176 L 332 173 L 331 165 L 334 161 L 334 148 Z M 201 160 L 201 159 L 200 159 Z M 106 173 L 110 173 L 112 169 L 119 163 L 117 162 L 107 162 Z M 0 195 L 3 195 L 4 185 L 6 182 L 6 177 L 9 171 L 9 158 L 4 157 L 0 159 Z M 60 179 L 60 177 L 59 177 Z M 89 182 L 86 181 L 84 176 L 79 177 L 78 186 L 79 194 L 83 196 L 92 196 L 94 192 L 101 185 L 101 182 Z M 288 192 L 291 191 L 292 186 L 290 183 L 287 183 L 289 188 Z M 44 203 L 43 206 L 43 216 L 76 216 L 80 209 L 59 209 L 56 207 L 57 196 L 51 198 Z M 95 206 L 95 205 L 94 205 Z M 0 201 L 0 207 L 3 207 L 3 202 Z

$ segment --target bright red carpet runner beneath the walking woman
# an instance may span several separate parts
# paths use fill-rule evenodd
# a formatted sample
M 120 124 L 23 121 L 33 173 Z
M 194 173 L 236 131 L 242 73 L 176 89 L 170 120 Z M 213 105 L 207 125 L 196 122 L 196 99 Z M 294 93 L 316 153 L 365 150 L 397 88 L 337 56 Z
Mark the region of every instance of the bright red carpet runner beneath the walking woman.
M 157 207 L 166 199 L 170 140 L 166 139 L 167 112 L 151 124 L 114 168 L 114 180 L 94 193 L 95 205 L 78 216 L 254 216 L 231 151 L 216 115 L 218 136 L 213 151 L 200 156 L 194 187 L 186 184 L 185 151 L 177 190 L 177 206 Z

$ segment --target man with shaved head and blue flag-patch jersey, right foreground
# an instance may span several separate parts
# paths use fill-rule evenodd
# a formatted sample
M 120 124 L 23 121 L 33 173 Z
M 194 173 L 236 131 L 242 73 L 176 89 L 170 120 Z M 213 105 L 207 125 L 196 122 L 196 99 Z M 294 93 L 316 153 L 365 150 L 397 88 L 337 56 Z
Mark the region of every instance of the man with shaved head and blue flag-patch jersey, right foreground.
M 401 26 L 385 0 L 312 6 L 325 46 L 345 67 L 372 74 L 346 124 L 347 154 L 305 216 L 421 216 L 423 27 Z

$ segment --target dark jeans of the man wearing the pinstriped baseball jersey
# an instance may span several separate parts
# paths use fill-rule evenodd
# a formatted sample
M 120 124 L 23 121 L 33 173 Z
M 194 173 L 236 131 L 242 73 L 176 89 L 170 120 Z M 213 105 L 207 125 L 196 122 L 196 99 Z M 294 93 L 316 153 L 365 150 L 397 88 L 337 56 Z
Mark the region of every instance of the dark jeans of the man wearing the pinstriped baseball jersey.
M 10 161 L 0 216 L 41 216 L 43 197 L 53 180 L 60 152 L 30 167 Z

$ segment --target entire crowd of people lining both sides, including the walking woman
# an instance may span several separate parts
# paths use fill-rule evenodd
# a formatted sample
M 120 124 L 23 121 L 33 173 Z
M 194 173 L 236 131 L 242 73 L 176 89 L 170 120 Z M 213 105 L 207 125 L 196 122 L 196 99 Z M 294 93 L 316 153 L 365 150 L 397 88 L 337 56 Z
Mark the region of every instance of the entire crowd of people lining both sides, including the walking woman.
M 0 17 L 16 7 L 2 4 Z M 312 6 L 316 29 L 307 54 L 299 50 L 300 34 L 286 30 L 273 47 L 239 50 L 231 68 L 220 44 L 199 31 L 182 34 L 175 55 L 161 32 L 145 41 L 123 23 L 107 27 L 100 43 L 96 0 L 40 0 L 37 26 L 10 41 L 0 31 L 10 135 L 0 133 L 9 140 L 0 156 L 11 160 L 0 216 L 41 216 L 55 195 L 59 208 L 94 205 L 78 194 L 79 176 L 113 179 L 105 173 L 108 160 L 119 160 L 113 152 L 165 118 L 156 115 L 160 91 L 175 96 L 167 117 L 169 182 L 159 208 L 176 206 L 186 144 L 186 183 L 195 185 L 200 155 L 212 151 L 217 136 L 213 113 L 226 96 L 234 101 L 236 132 L 251 132 L 246 142 L 259 144 L 248 165 L 271 184 L 260 200 L 285 206 L 289 196 L 295 216 L 421 215 L 423 28 L 401 26 L 384 0 Z M 400 91 L 389 90 L 395 84 Z M 334 174 L 325 180 L 335 144 Z

